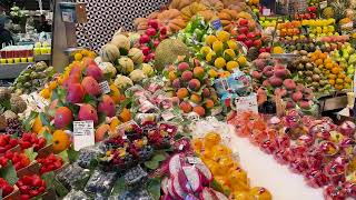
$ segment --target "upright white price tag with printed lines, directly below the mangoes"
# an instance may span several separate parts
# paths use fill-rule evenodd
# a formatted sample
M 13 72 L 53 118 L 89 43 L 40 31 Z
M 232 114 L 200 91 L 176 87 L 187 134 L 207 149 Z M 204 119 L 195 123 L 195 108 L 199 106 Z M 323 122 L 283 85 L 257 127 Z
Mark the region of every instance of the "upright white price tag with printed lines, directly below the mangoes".
M 73 121 L 73 143 L 76 151 L 96 143 L 93 121 Z

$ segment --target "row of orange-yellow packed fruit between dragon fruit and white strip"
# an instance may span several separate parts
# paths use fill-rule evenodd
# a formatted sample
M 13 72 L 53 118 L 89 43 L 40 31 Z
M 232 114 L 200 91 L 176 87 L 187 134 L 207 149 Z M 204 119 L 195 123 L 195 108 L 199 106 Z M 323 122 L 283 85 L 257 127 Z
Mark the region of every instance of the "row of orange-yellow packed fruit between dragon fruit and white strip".
M 204 139 L 194 139 L 192 148 L 210 169 L 215 180 L 224 190 L 230 191 L 230 199 L 271 199 L 267 189 L 250 188 L 247 172 L 234 160 L 231 150 L 221 143 L 218 133 L 209 132 Z

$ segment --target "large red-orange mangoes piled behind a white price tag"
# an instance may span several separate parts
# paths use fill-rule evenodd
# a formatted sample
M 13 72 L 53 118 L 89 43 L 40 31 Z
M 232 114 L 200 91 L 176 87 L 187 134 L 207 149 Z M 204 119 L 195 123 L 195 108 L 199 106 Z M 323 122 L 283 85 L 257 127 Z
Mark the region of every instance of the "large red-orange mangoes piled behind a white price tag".
M 55 107 L 55 127 L 66 129 L 73 120 L 91 120 L 95 126 L 99 122 L 99 114 L 113 117 L 116 114 L 116 104 L 111 97 L 102 94 L 99 83 L 103 81 L 101 69 L 93 62 L 87 61 L 86 64 L 73 66 L 69 77 L 63 81 L 62 87 L 67 90 L 65 100 L 68 103 L 78 104 L 80 109 L 75 117 L 69 107 Z M 87 66 L 87 67 L 86 67 Z M 86 97 L 91 97 L 93 102 L 87 102 Z M 53 101 L 55 102 L 55 101 Z M 53 103 L 57 104 L 57 103 Z M 93 107 L 93 104 L 96 107 Z

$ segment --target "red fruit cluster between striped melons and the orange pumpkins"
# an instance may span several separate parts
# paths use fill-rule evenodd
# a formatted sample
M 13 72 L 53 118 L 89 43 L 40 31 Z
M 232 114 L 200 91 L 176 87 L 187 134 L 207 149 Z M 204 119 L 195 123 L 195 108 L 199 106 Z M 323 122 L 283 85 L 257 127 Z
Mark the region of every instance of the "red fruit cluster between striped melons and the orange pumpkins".
M 167 28 L 158 23 L 157 20 L 148 21 L 148 29 L 140 36 L 139 43 L 144 53 L 144 62 L 149 62 L 155 59 L 155 49 L 167 38 Z

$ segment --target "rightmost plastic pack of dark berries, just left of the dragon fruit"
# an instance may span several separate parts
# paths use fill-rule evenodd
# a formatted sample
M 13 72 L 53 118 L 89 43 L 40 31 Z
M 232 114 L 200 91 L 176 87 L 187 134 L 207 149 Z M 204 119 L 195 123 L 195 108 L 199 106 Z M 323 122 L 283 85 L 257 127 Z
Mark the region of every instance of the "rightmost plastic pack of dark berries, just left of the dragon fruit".
M 123 174 L 125 184 L 129 188 L 141 187 L 146 182 L 147 177 L 147 172 L 140 166 L 136 166 Z

